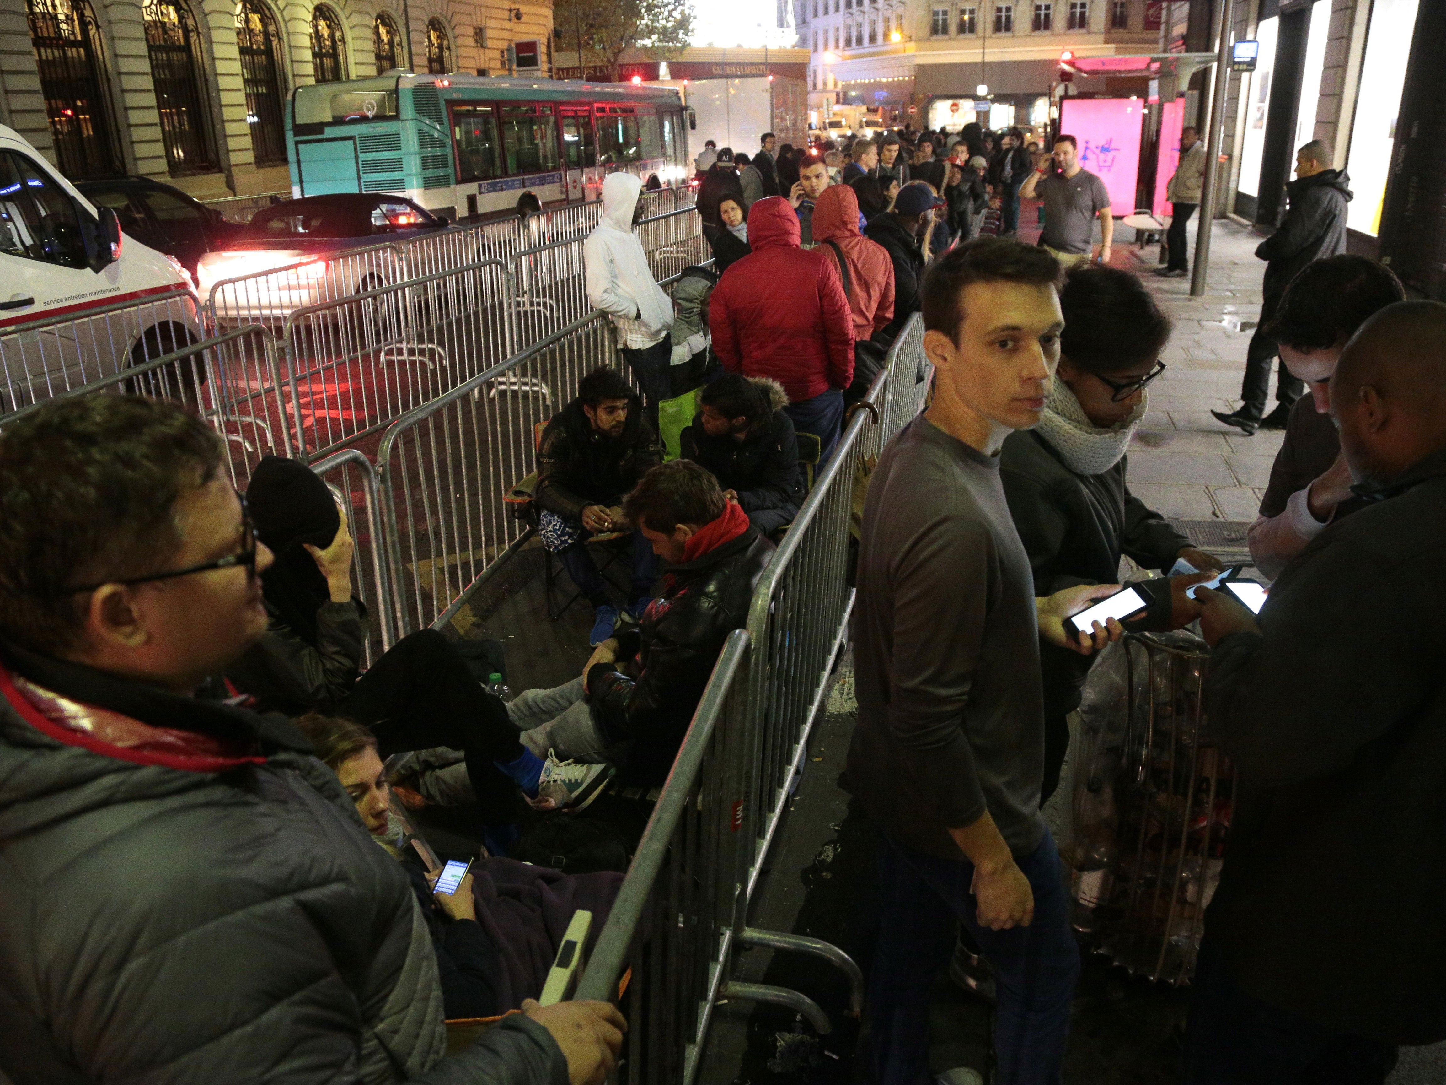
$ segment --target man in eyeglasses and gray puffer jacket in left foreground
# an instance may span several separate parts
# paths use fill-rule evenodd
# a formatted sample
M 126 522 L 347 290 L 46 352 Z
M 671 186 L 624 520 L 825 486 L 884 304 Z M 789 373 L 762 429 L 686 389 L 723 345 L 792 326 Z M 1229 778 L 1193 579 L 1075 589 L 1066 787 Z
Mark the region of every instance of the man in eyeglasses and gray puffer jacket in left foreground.
M 0 1078 L 602 1082 L 593 1003 L 445 1059 L 406 875 L 288 719 L 207 697 L 272 561 L 224 453 L 129 396 L 0 434 Z

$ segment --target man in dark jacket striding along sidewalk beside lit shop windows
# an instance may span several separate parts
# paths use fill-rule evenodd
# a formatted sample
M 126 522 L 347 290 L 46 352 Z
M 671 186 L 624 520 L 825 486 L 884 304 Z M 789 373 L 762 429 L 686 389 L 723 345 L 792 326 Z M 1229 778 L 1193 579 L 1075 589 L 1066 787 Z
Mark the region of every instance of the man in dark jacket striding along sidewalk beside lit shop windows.
M 1245 434 L 1254 434 L 1262 427 L 1284 430 L 1290 421 L 1291 404 L 1304 391 L 1304 385 L 1281 365 L 1275 382 L 1275 409 L 1265 415 L 1271 362 L 1278 353 L 1275 340 L 1265 327 L 1275 315 L 1275 308 L 1285 294 L 1285 286 L 1296 278 L 1296 272 L 1314 259 L 1346 250 L 1349 179 L 1343 169 L 1330 168 L 1329 143 L 1323 139 L 1306 143 L 1296 155 L 1296 179 L 1285 185 L 1290 200 L 1285 220 L 1255 249 L 1255 255 L 1267 260 L 1265 281 L 1261 284 L 1261 323 L 1245 352 L 1241 407 L 1231 412 L 1210 411 L 1219 421 Z

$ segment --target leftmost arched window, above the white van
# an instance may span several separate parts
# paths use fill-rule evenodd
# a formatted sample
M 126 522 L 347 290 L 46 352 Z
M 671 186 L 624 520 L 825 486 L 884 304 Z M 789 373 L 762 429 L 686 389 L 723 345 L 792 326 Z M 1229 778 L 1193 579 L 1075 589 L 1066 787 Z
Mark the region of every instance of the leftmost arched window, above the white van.
M 87 0 L 29 0 L 30 45 L 40 74 L 55 161 L 72 181 L 123 174 L 101 39 Z

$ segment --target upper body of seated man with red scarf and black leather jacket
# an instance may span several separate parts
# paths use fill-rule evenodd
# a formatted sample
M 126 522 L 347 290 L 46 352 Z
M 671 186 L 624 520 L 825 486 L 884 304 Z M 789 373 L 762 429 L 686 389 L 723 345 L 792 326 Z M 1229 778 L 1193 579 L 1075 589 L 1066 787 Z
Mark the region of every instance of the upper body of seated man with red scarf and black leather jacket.
M 628 778 L 662 783 L 774 544 L 690 460 L 654 467 L 623 509 L 669 567 L 636 634 L 599 645 L 583 674 L 594 722 L 629 745 Z

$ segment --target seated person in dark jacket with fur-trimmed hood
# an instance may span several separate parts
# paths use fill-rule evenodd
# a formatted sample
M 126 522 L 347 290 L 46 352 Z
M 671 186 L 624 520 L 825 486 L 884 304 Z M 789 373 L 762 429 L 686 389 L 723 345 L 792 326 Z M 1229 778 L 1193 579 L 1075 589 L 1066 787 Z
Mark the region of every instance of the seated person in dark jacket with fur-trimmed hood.
M 724 373 L 703 385 L 698 401 L 701 409 L 683 431 L 683 459 L 707 467 L 762 534 L 791 524 L 807 495 L 784 386 Z

